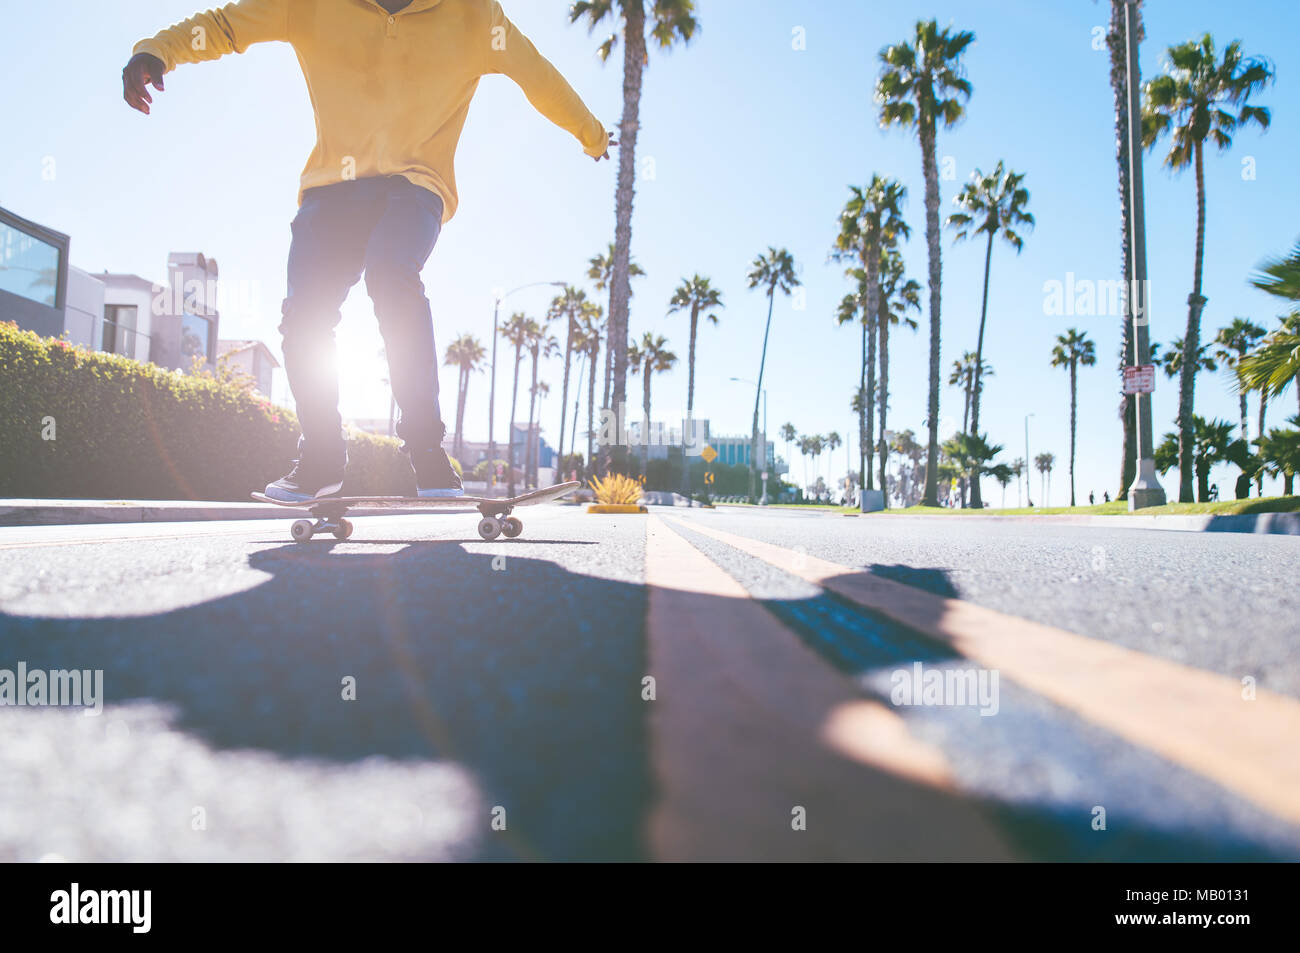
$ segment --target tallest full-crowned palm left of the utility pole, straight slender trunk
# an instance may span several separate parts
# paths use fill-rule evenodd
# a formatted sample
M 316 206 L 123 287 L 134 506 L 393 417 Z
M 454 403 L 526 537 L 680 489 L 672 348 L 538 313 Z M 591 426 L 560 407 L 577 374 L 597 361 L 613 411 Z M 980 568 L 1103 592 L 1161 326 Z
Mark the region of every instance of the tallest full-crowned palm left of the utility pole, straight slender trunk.
M 975 34 L 940 30 L 933 20 L 916 21 L 909 43 L 896 43 L 880 51 L 880 78 L 875 99 L 880 104 L 880 125 L 915 129 L 920 143 L 920 168 L 926 178 L 926 244 L 930 251 L 930 445 L 926 463 L 927 506 L 939 504 L 939 376 L 940 376 L 940 290 L 942 260 L 939 241 L 939 125 L 952 127 L 966 112 L 971 85 L 965 77 L 962 53 L 975 42 Z

